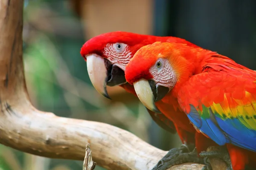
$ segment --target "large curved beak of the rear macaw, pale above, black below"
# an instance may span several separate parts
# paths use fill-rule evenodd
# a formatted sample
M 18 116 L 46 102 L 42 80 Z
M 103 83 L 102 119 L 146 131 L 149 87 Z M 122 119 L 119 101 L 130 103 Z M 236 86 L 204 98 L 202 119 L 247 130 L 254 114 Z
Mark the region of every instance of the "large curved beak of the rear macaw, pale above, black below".
M 116 86 L 126 83 L 125 72 L 116 65 L 112 65 L 107 59 L 89 54 L 86 57 L 87 71 L 93 87 L 103 96 L 111 99 L 106 86 Z

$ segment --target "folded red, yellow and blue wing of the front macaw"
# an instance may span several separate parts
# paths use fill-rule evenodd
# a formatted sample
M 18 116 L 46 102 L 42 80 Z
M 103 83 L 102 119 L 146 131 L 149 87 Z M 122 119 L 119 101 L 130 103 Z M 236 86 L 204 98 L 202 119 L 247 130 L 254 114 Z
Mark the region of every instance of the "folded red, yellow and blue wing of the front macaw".
M 178 101 L 197 130 L 219 145 L 256 151 L 256 72 L 208 65 L 178 92 Z

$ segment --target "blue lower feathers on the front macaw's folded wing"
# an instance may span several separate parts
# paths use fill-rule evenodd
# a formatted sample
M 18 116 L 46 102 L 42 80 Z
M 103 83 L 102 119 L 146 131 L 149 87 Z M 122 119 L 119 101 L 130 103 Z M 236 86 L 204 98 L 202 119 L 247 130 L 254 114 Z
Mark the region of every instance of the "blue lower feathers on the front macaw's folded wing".
M 190 105 L 190 108 L 189 120 L 214 142 L 219 145 L 231 143 L 256 152 L 256 130 L 248 129 L 238 119 L 222 120 L 211 109 L 210 118 L 202 119 L 194 106 Z

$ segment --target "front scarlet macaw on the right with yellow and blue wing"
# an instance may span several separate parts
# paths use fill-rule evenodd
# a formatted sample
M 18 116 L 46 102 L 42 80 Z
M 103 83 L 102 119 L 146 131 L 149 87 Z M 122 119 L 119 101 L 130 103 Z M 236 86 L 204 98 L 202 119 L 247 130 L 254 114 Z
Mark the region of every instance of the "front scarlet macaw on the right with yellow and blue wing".
M 125 78 L 151 111 L 161 111 L 156 99 L 177 107 L 199 133 L 226 145 L 230 169 L 244 170 L 248 163 L 255 167 L 256 71 L 216 52 L 155 42 L 134 54 Z M 178 117 L 173 114 L 172 121 Z

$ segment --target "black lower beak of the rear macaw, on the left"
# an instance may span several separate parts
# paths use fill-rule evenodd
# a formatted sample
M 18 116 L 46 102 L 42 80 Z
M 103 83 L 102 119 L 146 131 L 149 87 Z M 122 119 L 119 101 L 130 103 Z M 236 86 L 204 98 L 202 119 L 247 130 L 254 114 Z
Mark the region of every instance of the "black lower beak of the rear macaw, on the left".
M 108 71 L 106 82 L 108 86 L 122 85 L 126 83 L 125 72 L 116 65 L 112 65 L 107 59 L 105 59 L 105 67 Z

